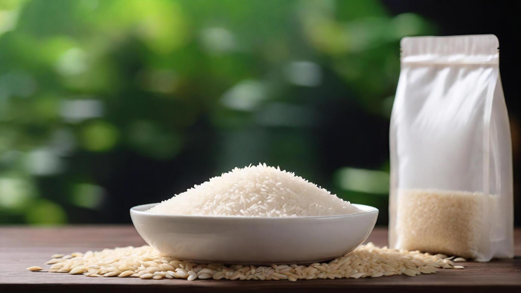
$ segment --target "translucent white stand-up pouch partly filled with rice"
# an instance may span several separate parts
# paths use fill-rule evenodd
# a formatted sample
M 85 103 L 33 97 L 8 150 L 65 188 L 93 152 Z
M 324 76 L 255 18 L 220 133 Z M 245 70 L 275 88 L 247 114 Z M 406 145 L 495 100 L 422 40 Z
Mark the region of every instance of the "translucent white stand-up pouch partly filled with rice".
M 389 245 L 512 258 L 512 142 L 495 35 L 405 37 L 391 116 Z

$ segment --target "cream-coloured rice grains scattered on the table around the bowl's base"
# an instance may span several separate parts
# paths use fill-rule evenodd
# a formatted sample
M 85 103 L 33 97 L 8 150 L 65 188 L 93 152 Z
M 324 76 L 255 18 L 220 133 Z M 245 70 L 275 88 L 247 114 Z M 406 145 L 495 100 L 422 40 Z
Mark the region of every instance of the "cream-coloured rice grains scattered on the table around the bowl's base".
M 446 256 L 445 256 L 446 257 Z M 454 259 L 457 261 L 458 259 Z M 148 263 L 147 263 L 148 262 Z M 368 243 L 329 263 L 307 265 L 279 264 L 271 266 L 230 265 L 220 263 L 195 264 L 172 260 L 150 246 L 118 247 L 93 251 L 89 254 L 54 264 L 49 272 L 84 274 L 89 277 L 139 277 L 142 279 L 182 278 L 199 279 L 280 280 L 317 278 L 361 278 L 392 275 L 416 276 L 436 273 L 441 269 L 463 269 L 451 260 L 419 251 L 379 248 Z M 146 266 L 146 267 L 145 267 Z M 121 271 L 125 267 L 134 270 Z M 72 269 L 71 269 L 72 268 Z M 184 268 L 184 269 L 183 269 Z M 28 267 L 28 270 L 43 270 Z M 152 272 L 153 273 L 150 273 Z

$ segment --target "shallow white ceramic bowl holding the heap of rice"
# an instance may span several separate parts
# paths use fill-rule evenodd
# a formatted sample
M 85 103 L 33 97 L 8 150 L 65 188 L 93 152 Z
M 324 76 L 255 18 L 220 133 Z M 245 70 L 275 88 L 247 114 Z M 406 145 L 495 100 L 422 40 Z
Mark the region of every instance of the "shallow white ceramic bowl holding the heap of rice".
M 343 256 L 369 236 L 378 209 L 293 218 L 167 215 L 145 212 L 157 203 L 130 209 L 143 239 L 168 256 L 196 263 L 313 263 Z

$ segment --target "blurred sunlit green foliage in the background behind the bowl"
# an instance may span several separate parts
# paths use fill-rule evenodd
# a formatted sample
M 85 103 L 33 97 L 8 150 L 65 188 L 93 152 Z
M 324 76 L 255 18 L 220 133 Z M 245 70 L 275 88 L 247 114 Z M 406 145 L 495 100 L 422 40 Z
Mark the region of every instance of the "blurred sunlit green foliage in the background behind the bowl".
M 73 207 L 125 196 L 97 180 L 112 158 L 172 161 L 208 133 L 210 175 L 261 158 L 387 205 L 386 160 L 322 174 L 310 129 L 338 97 L 388 119 L 398 41 L 431 32 L 378 1 L 2 1 L 0 223 L 87 221 Z

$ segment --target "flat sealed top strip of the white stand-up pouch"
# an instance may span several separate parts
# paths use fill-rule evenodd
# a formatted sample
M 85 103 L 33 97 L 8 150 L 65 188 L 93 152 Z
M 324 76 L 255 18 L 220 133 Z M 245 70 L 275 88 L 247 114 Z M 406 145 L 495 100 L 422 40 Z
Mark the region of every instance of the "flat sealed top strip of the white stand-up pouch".
M 493 34 L 404 37 L 400 46 L 402 63 L 499 63 L 499 40 Z

